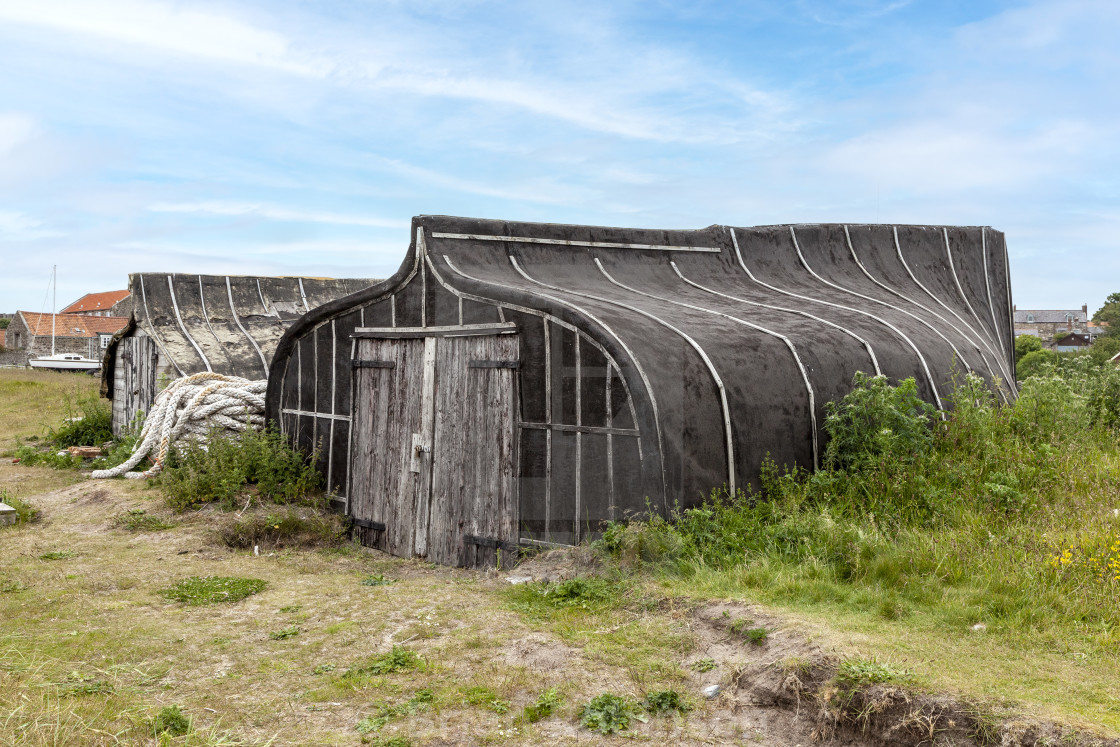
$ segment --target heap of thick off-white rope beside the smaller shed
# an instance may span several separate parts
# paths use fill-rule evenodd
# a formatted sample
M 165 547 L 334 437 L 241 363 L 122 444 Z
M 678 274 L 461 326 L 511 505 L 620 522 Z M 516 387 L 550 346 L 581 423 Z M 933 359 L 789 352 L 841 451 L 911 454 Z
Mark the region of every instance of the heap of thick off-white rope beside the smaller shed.
M 139 446 L 129 460 L 112 469 L 96 469 L 90 477 L 153 477 L 164 468 L 171 443 L 183 438 L 205 440 L 215 428 L 239 432 L 246 428 L 263 427 L 267 387 L 268 381 L 250 381 L 208 372 L 176 379 L 152 402 L 140 431 Z M 156 456 L 151 457 L 150 469 L 130 471 L 152 454 Z

